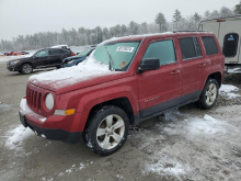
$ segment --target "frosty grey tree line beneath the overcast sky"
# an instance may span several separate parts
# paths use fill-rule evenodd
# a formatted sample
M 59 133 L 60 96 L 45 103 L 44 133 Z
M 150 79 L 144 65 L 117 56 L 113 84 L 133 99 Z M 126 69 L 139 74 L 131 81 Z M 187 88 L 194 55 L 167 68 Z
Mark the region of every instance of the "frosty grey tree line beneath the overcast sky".
M 33 35 L 19 35 L 12 41 L 0 41 L 0 52 L 10 50 L 27 50 L 50 47 L 53 45 L 67 44 L 69 46 L 96 45 L 112 37 L 120 37 L 127 35 L 162 33 L 175 30 L 197 30 L 199 22 L 208 19 L 218 19 L 241 14 L 241 1 L 234 7 L 234 10 L 222 7 L 219 11 L 206 11 L 203 15 L 195 13 L 184 18 L 177 9 L 173 13 L 172 22 L 168 22 L 164 14 L 159 12 L 153 23 L 136 23 L 131 21 L 128 25 L 117 24 L 112 27 L 65 30 L 57 32 L 41 32 Z

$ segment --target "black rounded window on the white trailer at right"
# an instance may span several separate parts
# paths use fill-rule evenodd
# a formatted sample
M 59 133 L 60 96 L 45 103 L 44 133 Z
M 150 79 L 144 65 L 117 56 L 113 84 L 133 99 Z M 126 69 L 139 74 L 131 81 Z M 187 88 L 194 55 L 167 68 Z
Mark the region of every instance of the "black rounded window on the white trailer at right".
M 222 53 L 226 57 L 234 57 L 238 50 L 239 35 L 229 33 L 225 36 Z

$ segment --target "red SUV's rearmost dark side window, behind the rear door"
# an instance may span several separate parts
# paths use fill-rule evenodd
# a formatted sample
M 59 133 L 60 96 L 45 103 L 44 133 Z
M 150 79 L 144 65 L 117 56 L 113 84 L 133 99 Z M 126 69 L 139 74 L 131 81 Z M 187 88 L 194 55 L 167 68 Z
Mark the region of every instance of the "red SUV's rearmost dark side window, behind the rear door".
M 202 39 L 207 55 L 218 54 L 218 47 L 213 36 L 203 36 Z

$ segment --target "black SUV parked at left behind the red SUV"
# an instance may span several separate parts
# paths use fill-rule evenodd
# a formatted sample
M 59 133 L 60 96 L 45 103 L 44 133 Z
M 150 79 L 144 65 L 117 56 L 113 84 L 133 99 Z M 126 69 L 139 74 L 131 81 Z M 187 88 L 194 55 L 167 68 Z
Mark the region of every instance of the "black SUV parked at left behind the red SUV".
M 45 48 L 33 53 L 30 56 L 9 60 L 7 68 L 10 71 L 31 73 L 33 69 L 61 67 L 62 59 L 71 56 L 71 52 L 61 48 Z

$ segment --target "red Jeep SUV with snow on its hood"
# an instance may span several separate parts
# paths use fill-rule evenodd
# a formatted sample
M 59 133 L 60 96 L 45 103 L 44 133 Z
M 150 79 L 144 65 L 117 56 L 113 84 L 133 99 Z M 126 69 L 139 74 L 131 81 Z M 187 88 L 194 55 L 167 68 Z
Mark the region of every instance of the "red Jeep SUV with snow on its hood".
M 225 73 L 217 38 L 173 32 L 114 38 L 80 66 L 32 76 L 20 120 L 37 135 L 117 151 L 129 125 L 197 102 L 213 108 Z

